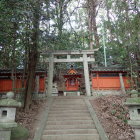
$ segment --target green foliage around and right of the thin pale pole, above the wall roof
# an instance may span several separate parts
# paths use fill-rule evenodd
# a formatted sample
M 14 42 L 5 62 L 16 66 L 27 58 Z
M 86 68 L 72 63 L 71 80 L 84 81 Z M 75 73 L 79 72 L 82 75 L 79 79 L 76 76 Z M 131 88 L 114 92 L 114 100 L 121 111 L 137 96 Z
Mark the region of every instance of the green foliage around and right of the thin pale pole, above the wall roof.
M 129 76 L 133 80 L 131 81 L 132 87 L 137 89 L 140 87 L 138 74 L 140 66 L 139 6 L 139 1 L 106 0 L 104 10 L 107 14 L 103 21 L 107 64 L 128 69 Z M 99 49 L 96 57 L 98 65 L 104 65 L 103 47 Z

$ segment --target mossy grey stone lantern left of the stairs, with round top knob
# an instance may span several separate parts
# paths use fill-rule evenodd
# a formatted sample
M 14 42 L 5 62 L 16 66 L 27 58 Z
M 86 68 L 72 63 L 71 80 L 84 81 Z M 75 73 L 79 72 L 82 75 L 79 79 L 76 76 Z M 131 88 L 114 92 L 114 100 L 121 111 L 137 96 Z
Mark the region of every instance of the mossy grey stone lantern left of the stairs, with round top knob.
M 8 92 L 6 97 L 6 99 L 0 100 L 0 140 L 10 140 L 11 129 L 17 127 L 16 107 L 21 107 L 20 102 L 12 99 L 13 92 Z

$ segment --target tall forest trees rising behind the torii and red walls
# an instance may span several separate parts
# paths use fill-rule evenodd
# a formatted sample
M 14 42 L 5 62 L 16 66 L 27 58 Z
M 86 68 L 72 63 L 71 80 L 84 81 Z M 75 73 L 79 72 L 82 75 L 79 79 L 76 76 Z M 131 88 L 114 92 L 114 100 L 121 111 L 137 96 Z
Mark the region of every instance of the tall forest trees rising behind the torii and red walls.
M 95 66 L 124 67 L 140 89 L 140 1 L 0 0 L 0 68 L 28 73 L 26 109 L 41 52 L 95 48 Z

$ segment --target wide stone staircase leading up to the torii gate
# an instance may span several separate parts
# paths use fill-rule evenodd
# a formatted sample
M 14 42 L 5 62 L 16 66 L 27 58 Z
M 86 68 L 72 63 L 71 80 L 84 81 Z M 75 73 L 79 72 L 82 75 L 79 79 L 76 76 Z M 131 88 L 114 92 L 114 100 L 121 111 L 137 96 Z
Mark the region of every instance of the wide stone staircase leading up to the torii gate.
M 82 97 L 55 97 L 41 140 L 100 140 Z

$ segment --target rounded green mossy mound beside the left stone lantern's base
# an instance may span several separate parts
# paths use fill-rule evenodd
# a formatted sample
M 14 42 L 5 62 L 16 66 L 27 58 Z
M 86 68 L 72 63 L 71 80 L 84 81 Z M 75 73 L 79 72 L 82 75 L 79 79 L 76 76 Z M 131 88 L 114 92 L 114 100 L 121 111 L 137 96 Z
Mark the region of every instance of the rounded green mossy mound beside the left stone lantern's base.
M 22 127 L 19 124 L 11 131 L 11 140 L 27 140 L 28 136 L 29 136 L 28 129 Z

